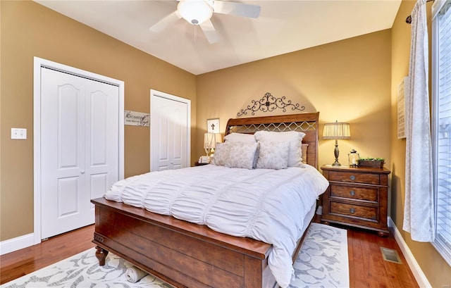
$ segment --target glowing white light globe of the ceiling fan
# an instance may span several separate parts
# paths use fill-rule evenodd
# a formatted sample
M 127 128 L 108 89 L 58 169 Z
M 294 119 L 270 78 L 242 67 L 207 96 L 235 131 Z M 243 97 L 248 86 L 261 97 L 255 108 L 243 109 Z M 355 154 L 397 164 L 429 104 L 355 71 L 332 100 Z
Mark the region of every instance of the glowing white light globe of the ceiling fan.
M 213 15 L 213 7 L 205 0 L 180 0 L 177 10 L 192 25 L 200 25 Z

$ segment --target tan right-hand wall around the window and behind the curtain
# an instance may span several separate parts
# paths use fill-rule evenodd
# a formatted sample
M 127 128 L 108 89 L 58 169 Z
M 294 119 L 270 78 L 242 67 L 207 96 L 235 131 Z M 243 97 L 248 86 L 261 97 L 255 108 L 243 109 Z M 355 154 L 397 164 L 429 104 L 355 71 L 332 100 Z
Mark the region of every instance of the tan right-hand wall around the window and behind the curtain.
M 397 84 L 409 74 L 409 50 L 411 27 L 405 23 L 407 15 L 412 12 L 415 1 L 402 1 L 392 28 L 392 96 L 391 96 L 391 215 L 402 238 L 419 263 L 432 287 L 445 287 L 451 283 L 451 267 L 429 243 L 415 242 L 410 234 L 402 230 L 404 220 L 404 187 L 405 187 L 405 139 L 397 139 Z M 431 4 L 428 4 L 429 43 L 431 47 Z M 430 62 L 431 63 L 431 62 Z M 431 71 L 431 68 L 429 69 Z M 430 77 L 431 78 L 431 77 Z

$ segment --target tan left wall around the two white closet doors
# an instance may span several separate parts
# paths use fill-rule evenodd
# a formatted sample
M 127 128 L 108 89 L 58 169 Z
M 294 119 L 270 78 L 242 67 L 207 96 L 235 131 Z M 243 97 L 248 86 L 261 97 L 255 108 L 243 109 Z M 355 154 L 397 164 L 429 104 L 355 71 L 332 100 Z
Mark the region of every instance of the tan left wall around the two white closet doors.
M 149 113 L 150 89 L 191 99 L 192 127 L 196 77 L 35 2 L 0 7 L 3 241 L 33 232 L 33 56 L 123 80 L 127 110 Z M 27 140 L 11 140 L 11 127 L 26 128 Z M 125 126 L 125 177 L 149 167 L 149 128 Z

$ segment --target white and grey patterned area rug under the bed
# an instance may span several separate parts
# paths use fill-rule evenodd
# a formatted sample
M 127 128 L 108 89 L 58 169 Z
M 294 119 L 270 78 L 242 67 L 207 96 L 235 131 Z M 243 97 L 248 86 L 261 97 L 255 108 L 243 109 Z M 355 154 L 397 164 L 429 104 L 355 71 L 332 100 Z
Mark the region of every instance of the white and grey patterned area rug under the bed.
M 109 253 L 99 266 L 95 249 L 89 249 L 63 261 L 30 273 L 1 288 L 80 287 L 80 288 L 171 288 L 147 275 L 129 282 L 126 271 L 131 263 Z M 312 223 L 294 264 L 295 279 L 290 288 L 349 287 L 347 231 Z M 224 287 L 227 285 L 225 284 Z

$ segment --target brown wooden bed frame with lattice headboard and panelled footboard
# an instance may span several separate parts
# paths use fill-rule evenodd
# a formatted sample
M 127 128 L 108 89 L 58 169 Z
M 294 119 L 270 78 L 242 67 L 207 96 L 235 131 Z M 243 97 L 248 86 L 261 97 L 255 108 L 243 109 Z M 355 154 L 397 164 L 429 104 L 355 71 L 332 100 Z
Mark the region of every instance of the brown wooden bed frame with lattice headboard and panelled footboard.
M 226 134 L 302 131 L 306 133 L 303 143 L 309 144 L 307 163 L 317 168 L 318 120 L 319 113 L 236 118 L 228 120 Z M 276 287 L 267 260 L 270 244 L 104 198 L 92 203 L 96 215 L 93 242 L 100 265 L 111 251 L 175 287 Z

